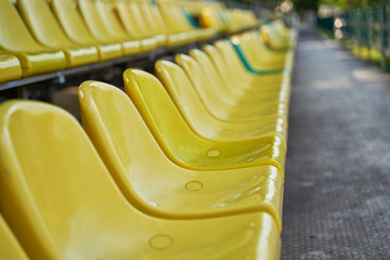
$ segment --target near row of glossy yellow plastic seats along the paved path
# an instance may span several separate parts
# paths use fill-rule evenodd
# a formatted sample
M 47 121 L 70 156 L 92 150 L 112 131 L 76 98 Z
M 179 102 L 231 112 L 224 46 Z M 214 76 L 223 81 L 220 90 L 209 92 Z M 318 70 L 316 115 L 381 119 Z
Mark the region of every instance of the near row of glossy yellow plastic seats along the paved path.
M 1 104 L 0 258 L 277 259 L 294 48 L 264 44 L 252 30 L 156 77 L 127 69 L 125 92 L 84 81 L 82 128 Z

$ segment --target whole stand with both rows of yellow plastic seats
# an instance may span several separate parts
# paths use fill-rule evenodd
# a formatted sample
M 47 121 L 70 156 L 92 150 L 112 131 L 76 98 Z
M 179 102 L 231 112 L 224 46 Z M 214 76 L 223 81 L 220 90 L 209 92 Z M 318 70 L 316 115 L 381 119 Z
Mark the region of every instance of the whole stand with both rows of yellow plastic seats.
M 0 0 L 0 258 L 278 259 L 296 41 L 222 2 Z M 74 84 L 81 125 L 37 101 Z

